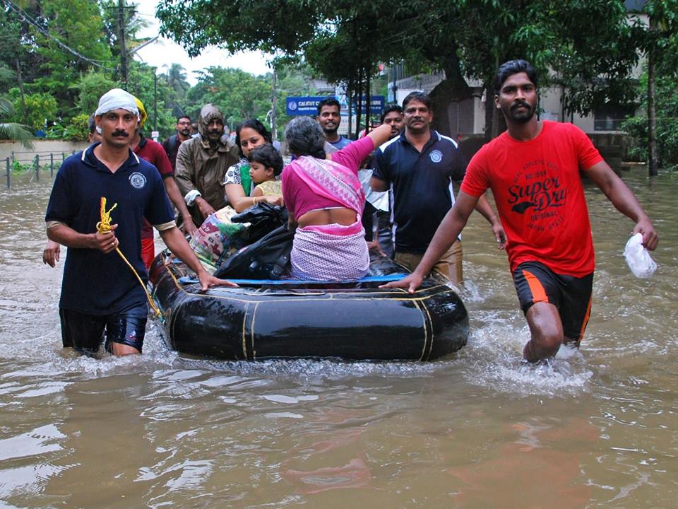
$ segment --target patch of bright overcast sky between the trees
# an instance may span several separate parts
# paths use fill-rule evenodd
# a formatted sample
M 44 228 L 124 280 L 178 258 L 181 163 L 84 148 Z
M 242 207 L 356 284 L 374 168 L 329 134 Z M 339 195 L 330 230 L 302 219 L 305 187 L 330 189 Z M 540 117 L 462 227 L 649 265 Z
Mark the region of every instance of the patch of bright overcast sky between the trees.
M 139 37 L 155 37 L 158 34 L 160 22 L 155 18 L 157 3 L 157 0 L 138 1 L 139 15 L 150 23 L 150 26 L 141 32 Z M 266 74 L 270 71 L 266 66 L 266 56 L 262 53 L 240 52 L 230 55 L 217 47 L 209 47 L 200 56 L 191 59 L 181 46 L 164 37 L 140 49 L 135 54 L 135 58 L 157 67 L 159 72 L 164 72 L 163 66 L 181 64 L 186 69 L 186 78 L 191 85 L 197 81 L 193 71 L 200 71 L 209 66 L 234 67 L 255 75 Z

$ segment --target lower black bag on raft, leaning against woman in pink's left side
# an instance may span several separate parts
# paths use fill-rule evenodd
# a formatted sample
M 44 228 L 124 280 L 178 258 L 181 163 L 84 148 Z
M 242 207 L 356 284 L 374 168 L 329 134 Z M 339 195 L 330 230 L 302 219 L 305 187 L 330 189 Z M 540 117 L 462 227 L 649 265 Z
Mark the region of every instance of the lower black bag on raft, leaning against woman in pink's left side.
M 295 232 L 280 226 L 225 259 L 214 273 L 219 279 L 280 279 L 290 271 Z

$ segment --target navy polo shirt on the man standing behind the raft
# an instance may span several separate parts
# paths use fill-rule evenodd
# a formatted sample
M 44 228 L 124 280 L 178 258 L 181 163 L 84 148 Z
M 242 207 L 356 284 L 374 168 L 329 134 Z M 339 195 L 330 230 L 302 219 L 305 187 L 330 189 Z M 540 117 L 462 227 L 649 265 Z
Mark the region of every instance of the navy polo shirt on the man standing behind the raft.
M 423 253 L 454 204 L 452 182 L 463 180 L 466 160 L 455 141 L 431 131 L 422 151 L 405 131 L 374 152 L 373 177 L 393 185 L 396 251 Z

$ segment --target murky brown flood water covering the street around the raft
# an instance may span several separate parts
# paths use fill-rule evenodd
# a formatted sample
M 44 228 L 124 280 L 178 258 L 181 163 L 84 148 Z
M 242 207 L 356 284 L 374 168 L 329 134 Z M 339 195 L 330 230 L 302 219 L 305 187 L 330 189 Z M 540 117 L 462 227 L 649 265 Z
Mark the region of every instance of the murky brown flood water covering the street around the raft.
M 49 178 L 1 189 L 0 507 L 675 507 L 678 174 L 645 172 L 623 177 L 660 233 L 658 271 L 634 278 L 633 224 L 588 185 L 593 315 L 580 352 L 538 367 L 477 214 L 469 342 L 443 361 L 196 360 L 153 324 L 143 356 L 77 356 L 59 332 L 65 254 L 41 259 Z

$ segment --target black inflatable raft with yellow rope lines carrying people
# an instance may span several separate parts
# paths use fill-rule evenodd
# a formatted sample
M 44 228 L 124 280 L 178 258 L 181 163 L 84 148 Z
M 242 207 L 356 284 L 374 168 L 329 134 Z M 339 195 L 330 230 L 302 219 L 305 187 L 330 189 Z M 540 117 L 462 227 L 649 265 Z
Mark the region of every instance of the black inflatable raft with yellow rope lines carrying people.
M 413 295 L 378 288 L 403 276 L 373 255 L 359 281 L 233 279 L 239 288 L 203 293 L 190 269 L 160 254 L 150 284 L 165 341 L 193 356 L 432 361 L 464 346 L 468 314 L 458 295 L 436 279 Z

